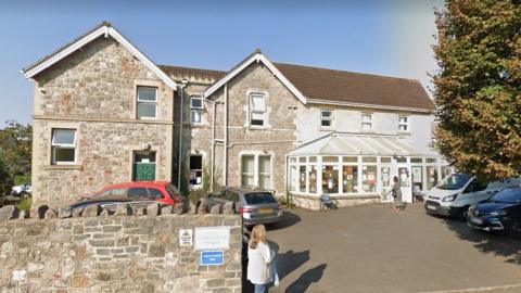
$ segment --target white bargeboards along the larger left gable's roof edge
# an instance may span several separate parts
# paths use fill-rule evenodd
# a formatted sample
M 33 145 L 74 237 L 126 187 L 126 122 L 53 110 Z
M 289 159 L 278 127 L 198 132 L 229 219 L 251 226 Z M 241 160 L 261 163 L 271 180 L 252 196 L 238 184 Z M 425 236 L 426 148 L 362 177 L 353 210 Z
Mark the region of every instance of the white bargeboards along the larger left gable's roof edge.
M 162 69 L 160 69 L 157 65 L 155 65 L 147 55 L 139 51 L 136 46 L 128 41 L 109 22 L 101 23 L 100 25 L 81 35 L 77 39 L 68 42 L 53 53 L 23 68 L 22 73 L 26 78 L 31 78 L 103 35 L 105 38 L 109 36 L 114 38 L 117 42 L 124 46 L 137 60 L 142 62 L 144 66 L 147 66 L 160 79 L 162 79 L 166 85 L 168 85 L 173 89 L 177 89 L 177 84 L 168 75 L 166 75 Z

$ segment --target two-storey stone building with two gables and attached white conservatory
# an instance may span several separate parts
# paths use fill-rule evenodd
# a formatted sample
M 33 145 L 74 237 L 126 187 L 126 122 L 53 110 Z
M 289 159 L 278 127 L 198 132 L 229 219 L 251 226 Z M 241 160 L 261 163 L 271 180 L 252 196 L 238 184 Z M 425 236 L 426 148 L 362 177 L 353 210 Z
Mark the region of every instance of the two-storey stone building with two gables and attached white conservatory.
M 449 171 L 429 148 L 433 103 L 417 80 L 272 63 L 259 50 L 229 72 L 155 65 L 109 23 L 24 74 L 37 201 L 168 180 L 290 192 L 316 208 L 320 194 L 385 200 L 393 176 L 411 195 Z

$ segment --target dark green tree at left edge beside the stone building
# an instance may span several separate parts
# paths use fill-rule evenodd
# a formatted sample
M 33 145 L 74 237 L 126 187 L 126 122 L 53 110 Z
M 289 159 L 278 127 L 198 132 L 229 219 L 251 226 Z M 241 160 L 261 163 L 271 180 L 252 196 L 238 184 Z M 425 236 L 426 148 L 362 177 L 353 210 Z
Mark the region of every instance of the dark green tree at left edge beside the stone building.
M 0 130 L 0 151 L 7 175 L 5 181 L 14 182 L 16 176 L 30 176 L 33 127 L 8 122 Z

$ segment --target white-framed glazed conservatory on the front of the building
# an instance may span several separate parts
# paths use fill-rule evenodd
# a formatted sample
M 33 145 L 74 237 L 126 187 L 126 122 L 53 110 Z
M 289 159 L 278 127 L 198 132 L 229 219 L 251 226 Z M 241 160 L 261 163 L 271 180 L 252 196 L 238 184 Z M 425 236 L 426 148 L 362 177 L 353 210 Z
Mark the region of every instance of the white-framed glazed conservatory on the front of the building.
M 452 171 L 435 153 L 417 153 L 406 137 L 392 135 L 332 132 L 293 150 L 288 160 L 290 192 L 301 206 L 320 194 L 340 206 L 390 201 L 394 176 L 404 201 L 412 202 Z

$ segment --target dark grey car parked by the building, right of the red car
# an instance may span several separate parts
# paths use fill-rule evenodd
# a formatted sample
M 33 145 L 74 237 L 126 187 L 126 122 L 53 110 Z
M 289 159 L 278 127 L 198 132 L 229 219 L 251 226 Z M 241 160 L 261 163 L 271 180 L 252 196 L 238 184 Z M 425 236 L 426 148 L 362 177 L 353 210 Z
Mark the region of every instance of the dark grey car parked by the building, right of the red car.
M 282 207 L 267 190 L 225 187 L 219 192 L 209 194 L 207 200 L 209 207 L 231 202 L 236 213 L 242 215 L 245 226 L 275 224 L 282 219 Z

